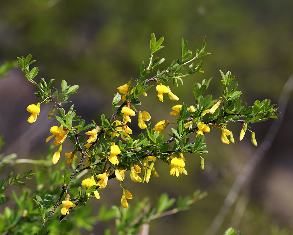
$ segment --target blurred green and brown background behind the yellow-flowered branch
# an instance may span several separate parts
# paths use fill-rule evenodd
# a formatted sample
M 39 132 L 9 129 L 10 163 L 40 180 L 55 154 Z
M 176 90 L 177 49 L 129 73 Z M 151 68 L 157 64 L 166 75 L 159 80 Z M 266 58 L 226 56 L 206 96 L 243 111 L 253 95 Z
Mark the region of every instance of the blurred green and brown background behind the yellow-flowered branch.
M 173 93 L 180 97 L 180 104 L 193 104 L 190 87 L 210 77 L 213 79 L 208 92 L 214 99 L 221 96 L 219 70 L 231 71 L 236 76 L 239 90 L 243 91 L 241 97 L 248 105 L 253 105 L 256 99 L 271 99 L 272 103 L 277 103 L 293 71 L 292 12 L 293 1 L 290 0 L 2 0 L 0 63 L 32 54 L 37 60 L 34 65 L 39 67 L 36 81 L 42 77 L 45 80 L 54 78 L 56 88 L 60 88 L 62 79 L 70 85 L 80 85 L 71 99 L 77 114 L 88 120 L 88 124 L 91 119 L 98 122 L 101 113 L 110 117 L 116 88 L 130 78 L 137 78 L 142 61 L 147 64 L 151 32 L 157 39 L 165 37 L 165 48 L 156 53 L 166 58 L 160 70 L 167 68 L 173 59 L 180 58 L 181 38 L 187 40 L 188 49 L 195 52 L 206 36 L 205 51 L 211 55 L 202 57 L 205 73 L 188 76 L 178 88 L 171 86 Z M 155 73 L 153 71 L 150 76 Z M 35 159 L 46 154 L 45 138 L 57 122 L 44 121 L 51 107 L 42 105 L 38 120 L 27 123 L 25 109 L 36 101 L 32 94 L 34 89 L 19 68 L 0 80 L 0 134 L 6 140 L 6 154 L 16 152 L 19 158 Z M 168 113 L 177 102 L 167 98 L 159 102 L 154 89 L 141 100 L 139 108 L 151 114 L 153 124 L 161 120 L 175 121 Z M 64 105 L 64 109 L 68 107 Z M 247 202 L 247 206 L 241 207 L 244 212 L 239 216 L 239 211 L 232 207 L 216 234 L 222 234 L 228 226 L 234 226 L 243 234 L 261 235 L 273 234 L 272 224 L 291 229 L 292 101 L 286 110 L 280 111 L 285 112 L 285 119 L 277 138 L 241 191 Z M 252 128 L 258 143 L 263 140 L 270 123 L 258 123 Z M 136 126 L 135 121 L 131 124 Z M 171 125 L 168 128 L 171 129 Z M 229 129 L 238 139 L 241 127 L 231 124 Z M 204 156 L 205 172 L 200 171 L 198 156 L 186 155 L 188 176 L 170 176 L 165 164 L 156 163 L 159 178 L 152 178 L 148 184 L 126 182 L 134 198 L 139 200 L 148 196 L 155 201 L 163 192 L 171 197 L 184 196 L 197 188 L 209 194 L 189 211 L 152 222 L 150 234 L 204 234 L 235 177 L 257 148 L 251 145 L 249 136 L 241 143 L 236 140 L 235 145 L 224 145 L 218 130 L 209 133 L 205 143 L 209 151 Z M 32 166 L 27 165 L 27 168 Z M 113 201 L 107 199 L 109 205 L 120 202 L 120 193 L 113 195 L 118 187 L 115 183 L 109 181 L 113 186 L 104 190 L 105 196 L 113 196 Z M 95 210 L 103 203 L 103 193 L 98 202 L 93 202 Z M 97 222 L 94 234 L 103 234 L 101 228 L 105 227 Z

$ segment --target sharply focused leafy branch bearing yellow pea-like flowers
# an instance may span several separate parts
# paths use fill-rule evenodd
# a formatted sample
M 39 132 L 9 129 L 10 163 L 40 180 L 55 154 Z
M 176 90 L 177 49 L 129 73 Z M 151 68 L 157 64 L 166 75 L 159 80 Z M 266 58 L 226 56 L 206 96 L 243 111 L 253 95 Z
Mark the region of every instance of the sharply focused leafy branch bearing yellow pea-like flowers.
M 50 89 L 50 86 L 54 79 L 51 79 L 48 83 L 45 82 L 44 78 L 40 80 L 40 83 L 36 83 L 33 80 L 38 74 L 38 67 L 30 69 L 30 65 L 35 62 L 31 61 L 31 55 L 26 58 L 23 56 L 18 57 L 18 64 L 25 77 L 38 89 L 34 93 L 38 96 L 38 100 L 27 108 L 28 112 L 31 113 L 28 122 L 33 123 L 37 120 L 37 115 L 42 112 L 43 103 L 53 102 L 48 118 L 56 118 L 61 125 L 53 126 L 50 129 L 53 135 L 46 140 L 48 142 L 55 137 L 53 145 L 59 146 L 52 157 L 52 164 L 57 164 L 63 155 L 63 143 L 67 140 L 71 142 L 71 147 L 73 147 L 71 153 L 65 154 L 68 157 L 67 163 L 69 165 L 73 164 L 79 158 L 78 152 L 80 152 L 81 156 L 70 177 L 67 175 L 65 166 L 60 166 L 60 169 L 64 169 L 64 183 L 62 191 L 54 204 L 52 204 L 53 195 L 47 195 L 44 200 L 36 195 L 38 212 L 42 217 L 44 227 L 50 221 L 59 205 L 63 205 L 60 211 L 62 215 L 59 217 L 62 220 L 79 204 L 86 205 L 90 197 L 103 198 L 103 193 L 100 190 L 107 186 L 108 180 L 116 178 L 122 187 L 121 184 L 125 180 L 125 171 L 130 171 L 132 181 L 148 183 L 150 176 L 159 177 L 155 169 L 155 161 L 161 160 L 170 167 L 170 175 L 176 175 L 177 177 L 180 174 L 187 175 L 189 159 L 185 160 L 183 156 L 187 152 L 200 156 L 199 165 L 204 170 L 204 158 L 201 155 L 207 153 L 207 150 L 205 150 L 207 146 L 204 143 L 205 135 L 212 132 L 214 127 L 220 129 L 219 131 L 221 132 L 218 133 L 221 133 L 222 142 L 229 144 L 235 141 L 233 133 L 227 129 L 228 123 L 240 122 L 243 124 L 240 131 L 240 140 L 242 140 L 246 131 L 251 131 L 251 124 L 265 121 L 268 118 L 277 118 L 275 115 L 277 114 L 277 109 L 274 108 L 275 104 L 270 104 L 270 100 L 263 100 L 262 102 L 256 100 L 251 107 L 247 107 L 246 103 L 241 105 L 242 100 L 239 97 L 242 92 L 236 91 L 238 82 L 232 89 L 229 89 L 235 78 L 231 77 L 230 71 L 226 74 L 220 71 L 224 89 L 218 99 L 213 100 L 212 95 L 203 96 L 211 81 L 211 79 L 204 79 L 201 83 L 194 83 L 192 92 L 195 102 L 193 104 L 190 104 L 189 107 L 183 102 L 178 104 L 180 95 L 174 91 L 179 95 L 178 97 L 171 91 L 168 82 L 172 80 L 176 89 L 178 80 L 183 85 L 183 79 L 186 76 L 198 72 L 203 73 L 201 70 L 202 61 L 200 60 L 196 65 L 193 64 L 193 61 L 210 53 L 205 52 L 206 39 L 203 41 L 202 48 L 196 50 L 195 56 L 193 56 L 191 50 L 187 50 L 187 41 L 182 39 L 181 59 L 173 60 L 165 70 L 157 70 L 155 76 L 147 78 L 156 66 L 165 61 L 164 58 L 154 58 L 154 53 L 163 48 L 163 40 L 163 37 L 156 40 L 155 35 L 151 35 L 151 55 L 148 66 L 145 68 L 143 61 L 137 78 L 130 79 L 127 83 L 117 88 L 118 92 L 112 101 L 113 115 L 106 119 L 105 115 L 102 114 L 101 120 L 97 121 L 98 124 L 93 121 L 86 126 L 86 121 L 81 119 L 81 116 L 76 116 L 74 105 L 71 105 L 67 113 L 62 108 L 62 103 L 69 102 L 67 101 L 69 95 L 76 93 L 79 86 L 70 86 L 65 80 L 62 80 L 62 92 L 58 92 L 57 89 L 53 92 L 54 89 Z M 183 74 L 183 70 L 186 70 L 185 74 Z M 132 86 L 133 81 L 136 84 Z M 137 106 L 142 104 L 141 100 L 147 99 L 139 99 L 140 95 L 147 97 L 147 90 L 154 86 L 154 84 L 150 83 L 156 84 L 159 101 L 164 101 L 164 94 L 168 94 L 171 100 L 176 101 L 176 104 L 170 107 L 170 111 L 171 109 L 173 110 L 170 115 L 176 117 L 176 123 L 171 124 L 172 133 L 168 133 L 169 138 L 166 142 L 163 142 L 166 139 L 164 131 L 170 124 L 169 121 L 162 120 L 153 126 L 150 121 L 152 114 L 147 111 L 137 110 Z M 56 107 L 58 115 L 54 114 Z M 131 130 L 133 128 L 131 120 L 136 114 L 139 120 L 139 128 L 145 131 L 134 137 Z M 123 118 L 119 120 L 119 116 L 123 116 Z M 74 122 L 78 122 L 78 124 L 74 124 Z M 84 132 L 88 129 L 91 130 Z M 189 138 L 192 133 L 195 135 Z M 86 136 L 88 136 L 88 139 L 86 139 Z M 257 145 L 255 133 L 252 131 L 251 142 L 253 145 Z M 82 164 L 86 166 L 79 169 Z M 82 171 L 88 171 L 91 176 L 84 178 L 81 186 L 78 187 L 78 195 L 70 200 L 68 191 L 73 191 L 73 189 L 69 189 L 69 184 L 76 174 Z M 127 200 L 132 197 L 135 197 L 135 195 L 122 187 L 122 207 L 127 208 Z M 52 210 L 47 212 L 47 209 L 51 207 L 53 207 Z M 60 214 L 60 212 L 58 213 Z M 152 216 L 154 217 L 155 215 Z

